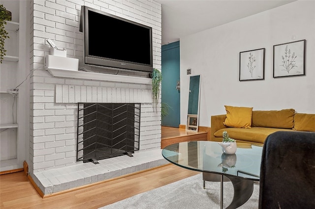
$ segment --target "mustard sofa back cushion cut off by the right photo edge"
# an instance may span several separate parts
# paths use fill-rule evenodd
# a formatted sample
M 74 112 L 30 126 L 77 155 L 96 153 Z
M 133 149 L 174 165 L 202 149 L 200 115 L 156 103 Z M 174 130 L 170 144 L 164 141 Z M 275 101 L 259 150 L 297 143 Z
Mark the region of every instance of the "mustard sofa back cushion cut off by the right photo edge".
M 294 131 L 315 131 L 315 114 L 295 113 Z

